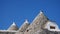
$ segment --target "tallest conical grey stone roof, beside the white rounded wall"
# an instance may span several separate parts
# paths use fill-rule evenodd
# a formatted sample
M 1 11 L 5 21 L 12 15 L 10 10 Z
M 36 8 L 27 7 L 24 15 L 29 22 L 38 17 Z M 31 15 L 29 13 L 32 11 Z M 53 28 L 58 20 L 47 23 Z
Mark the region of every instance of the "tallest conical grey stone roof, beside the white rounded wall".
M 29 25 L 29 27 L 26 30 L 28 33 L 36 32 L 38 30 L 43 31 L 43 25 L 46 24 L 48 21 L 48 18 L 44 15 L 43 11 L 40 10 L 40 13 L 35 17 L 35 19 L 32 21 L 32 23 Z M 26 33 L 27 31 L 25 31 Z

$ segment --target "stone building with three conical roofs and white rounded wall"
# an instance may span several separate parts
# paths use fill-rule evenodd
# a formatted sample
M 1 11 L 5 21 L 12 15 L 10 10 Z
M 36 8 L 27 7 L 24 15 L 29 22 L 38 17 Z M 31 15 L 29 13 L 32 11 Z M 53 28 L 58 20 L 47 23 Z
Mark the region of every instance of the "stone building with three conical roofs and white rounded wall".
M 7 30 L 0 30 L 0 34 L 60 34 L 60 29 L 54 21 L 49 20 L 40 11 L 31 24 L 25 20 L 22 26 L 18 28 L 13 22 Z

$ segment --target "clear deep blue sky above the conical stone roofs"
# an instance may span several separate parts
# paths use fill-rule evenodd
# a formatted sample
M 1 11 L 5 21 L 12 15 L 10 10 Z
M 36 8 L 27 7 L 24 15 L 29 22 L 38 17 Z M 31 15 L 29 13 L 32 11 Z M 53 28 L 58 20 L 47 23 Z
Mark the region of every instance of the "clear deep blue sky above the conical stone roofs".
M 0 0 L 0 29 L 13 22 L 20 27 L 25 19 L 31 23 L 40 10 L 60 27 L 60 0 Z

